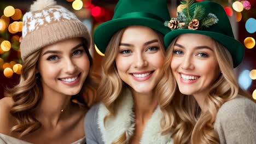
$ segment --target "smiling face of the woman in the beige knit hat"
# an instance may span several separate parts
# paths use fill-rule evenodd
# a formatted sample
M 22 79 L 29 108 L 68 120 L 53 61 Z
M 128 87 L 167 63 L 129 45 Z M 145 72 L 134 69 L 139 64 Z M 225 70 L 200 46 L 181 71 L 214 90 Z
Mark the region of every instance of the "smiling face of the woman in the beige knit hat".
M 44 92 L 75 95 L 89 73 L 90 62 L 82 39 L 59 41 L 42 49 L 38 71 Z

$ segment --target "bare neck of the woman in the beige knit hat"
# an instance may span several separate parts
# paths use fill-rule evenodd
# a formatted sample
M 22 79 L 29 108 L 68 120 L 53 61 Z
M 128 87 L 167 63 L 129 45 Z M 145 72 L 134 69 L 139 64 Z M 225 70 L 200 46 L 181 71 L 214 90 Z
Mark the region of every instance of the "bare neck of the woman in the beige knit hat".
M 71 95 L 44 92 L 36 110 L 36 118 L 49 127 L 56 127 L 61 118 L 68 113 L 72 103 Z

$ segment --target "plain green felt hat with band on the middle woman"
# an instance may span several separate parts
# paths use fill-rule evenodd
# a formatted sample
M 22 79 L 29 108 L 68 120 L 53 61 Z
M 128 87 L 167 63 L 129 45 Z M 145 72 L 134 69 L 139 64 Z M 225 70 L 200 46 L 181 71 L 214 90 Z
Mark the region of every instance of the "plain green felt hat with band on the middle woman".
M 170 29 L 164 26 L 165 20 L 170 20 L 166 0 L 119 0 L 112 20 L 95 29 L 94 42 L 104 53 L 114 33 L 132 25 L 147 26 L 166 34 Z

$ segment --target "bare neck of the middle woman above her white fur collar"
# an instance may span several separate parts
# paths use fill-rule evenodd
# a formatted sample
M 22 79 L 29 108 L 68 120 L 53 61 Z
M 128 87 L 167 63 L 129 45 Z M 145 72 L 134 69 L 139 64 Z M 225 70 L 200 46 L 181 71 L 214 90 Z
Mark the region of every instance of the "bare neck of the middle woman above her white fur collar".
M 153 92 L 146 94 L 132 92 L 132 97 L 135 104 L 136 121 L 147 122 L 158 105 L 156 97 L 154 97 Z

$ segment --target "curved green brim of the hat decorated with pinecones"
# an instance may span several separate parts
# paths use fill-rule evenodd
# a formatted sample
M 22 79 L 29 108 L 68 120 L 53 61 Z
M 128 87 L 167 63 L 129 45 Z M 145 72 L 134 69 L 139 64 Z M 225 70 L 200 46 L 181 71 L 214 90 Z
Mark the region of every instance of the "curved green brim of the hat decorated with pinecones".
M 245 54 L 245 47 L 243 46 L 243 44 L 241 44 L 239 41 L 227 35 L 210 32 L 210 31 L 199 31 L 199 30 L 192 30 L 192 29 L 176 29 L 165 35 L 165 38 L 164 38 L 165 46 L 168 47 L 168 45 L 170 45 L 170 43 L 174 38 L 178 37 L 178 35 L 185 34 L 185 33 L 203 34 L 213 38 L 214 40 L 217 40 L 220 44 L 225 46 L 226 49 L 228 49 L 228 51 L 231 53 L 234 68 L 236 68 L 243 60 L 243 56 Z

